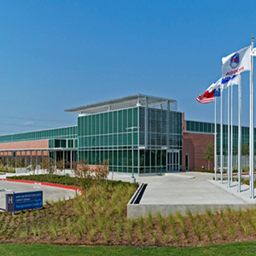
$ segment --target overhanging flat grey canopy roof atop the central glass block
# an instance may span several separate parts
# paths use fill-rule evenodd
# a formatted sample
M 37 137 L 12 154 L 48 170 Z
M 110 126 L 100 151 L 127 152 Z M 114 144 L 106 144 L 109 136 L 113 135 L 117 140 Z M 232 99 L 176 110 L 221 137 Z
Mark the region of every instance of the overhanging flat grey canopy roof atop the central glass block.
M 122 108 L 131 108 L 136 106 L 146 106 L 146 98 L 148 99 L 148 107 L 160 106 L 170 102 L 170 109 L 177 111 L 177 101 L 172 99 L 166 99 L 156 96 L 147 96 L 143 94 L 136 94 L 132 96 L 125 96 L 109 101 L 97 102 L 89 105 L 85 105 L 78 108 L 65 109 L 66 112 L 71 113 L 101 113 L 109 110 L 116 110 Z

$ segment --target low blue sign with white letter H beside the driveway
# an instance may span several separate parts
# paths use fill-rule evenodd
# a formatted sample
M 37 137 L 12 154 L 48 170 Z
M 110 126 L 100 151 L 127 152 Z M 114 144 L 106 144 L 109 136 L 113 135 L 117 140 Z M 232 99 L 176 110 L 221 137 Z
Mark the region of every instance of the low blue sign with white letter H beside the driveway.
M 43 207 L 43 191 L 7 194 L 5 205 L 7 212 Z

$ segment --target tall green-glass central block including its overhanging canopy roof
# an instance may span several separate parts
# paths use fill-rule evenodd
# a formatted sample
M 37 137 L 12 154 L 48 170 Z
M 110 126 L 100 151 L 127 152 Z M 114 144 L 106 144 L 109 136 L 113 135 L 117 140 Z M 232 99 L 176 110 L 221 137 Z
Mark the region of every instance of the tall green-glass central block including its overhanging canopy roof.
M 66 111 L 79 113 L 78 160 L 108 160 L 113 172 L 180 170 L 182 113 L 176 101 L 138 94 Z

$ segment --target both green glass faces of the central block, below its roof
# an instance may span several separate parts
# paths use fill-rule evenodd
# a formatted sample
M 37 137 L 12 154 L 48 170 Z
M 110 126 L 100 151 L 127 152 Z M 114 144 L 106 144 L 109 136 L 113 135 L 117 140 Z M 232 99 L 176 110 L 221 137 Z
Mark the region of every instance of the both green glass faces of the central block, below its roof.
M 166 172 L 167 111 L 135 107 L 79 116 L 78 159 L 88 165 L 108 160 L 110 172 Z M 182 149 L 182 114 L 170 112 L 170 148 Z M 148 147 L 145 135 L 148 134 Z M 133 163 L 132 163 L 133 154 Z

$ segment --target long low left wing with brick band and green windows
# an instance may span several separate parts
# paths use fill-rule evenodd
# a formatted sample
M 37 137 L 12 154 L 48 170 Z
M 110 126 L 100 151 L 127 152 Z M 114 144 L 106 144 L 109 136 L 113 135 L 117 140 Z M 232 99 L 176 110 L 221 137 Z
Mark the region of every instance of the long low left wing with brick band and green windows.
M 77 160 L 78 127 L 69 126 L 44 131 L 29 131 L 0 136 L 0 158 L 15 166 L 23 158 L 25 164 L 42 162 L 44 157 L 66 162 Z

